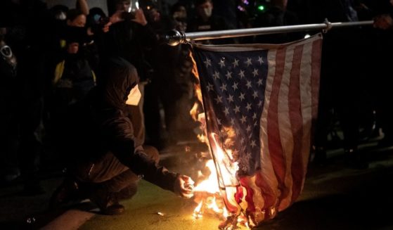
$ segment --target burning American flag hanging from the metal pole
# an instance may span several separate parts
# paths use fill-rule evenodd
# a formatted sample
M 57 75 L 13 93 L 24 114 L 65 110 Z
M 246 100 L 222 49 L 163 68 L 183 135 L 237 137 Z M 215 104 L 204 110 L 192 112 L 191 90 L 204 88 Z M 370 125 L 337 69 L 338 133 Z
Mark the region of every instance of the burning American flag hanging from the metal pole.
M 207 136 L 230 212 L 255 224 L 299 197 L 318 108 L 322 35 L 193 46 Z

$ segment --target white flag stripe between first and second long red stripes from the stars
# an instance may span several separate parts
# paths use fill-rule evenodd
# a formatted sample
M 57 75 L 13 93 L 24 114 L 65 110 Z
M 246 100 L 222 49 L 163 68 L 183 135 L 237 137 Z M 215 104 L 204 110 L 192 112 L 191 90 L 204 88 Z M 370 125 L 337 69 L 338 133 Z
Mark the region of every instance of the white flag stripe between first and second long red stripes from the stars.
M 288 46 L 285 53 L 285 65 L 283 77 L 281 79 L 280 91 L 278 94 L 278 130 L 280 132 L 281 146 L 283 146 L 283 158 L 285 160 L 285 188 L 289 189 L 288 196 L 281 200 L 278 211 L 284 210 L 290 205 L 292 197 L 292 152 L 293 136 L 290 124 L 290 109 L 288 104 L 288 94 L 290 85 L 290 72 L 292 69 L 292 60 L 295 46 Z

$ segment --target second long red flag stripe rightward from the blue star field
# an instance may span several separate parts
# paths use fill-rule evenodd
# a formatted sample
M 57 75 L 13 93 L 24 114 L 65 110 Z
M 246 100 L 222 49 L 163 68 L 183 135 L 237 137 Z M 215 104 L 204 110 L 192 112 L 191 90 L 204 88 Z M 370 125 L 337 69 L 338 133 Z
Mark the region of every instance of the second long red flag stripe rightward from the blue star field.
M 296 46 L 293 53 L 292 69 L 290 70 L 290 86 L 288 93 L 288 106 L 290 127 L 293 136 L 292 152 L 292 198 L 291 203 L 299 196 L 303 181 L 303 118 L 302 118 L 302 98 L 300 97 L 300 65 L 302 61 L 304 45 Z

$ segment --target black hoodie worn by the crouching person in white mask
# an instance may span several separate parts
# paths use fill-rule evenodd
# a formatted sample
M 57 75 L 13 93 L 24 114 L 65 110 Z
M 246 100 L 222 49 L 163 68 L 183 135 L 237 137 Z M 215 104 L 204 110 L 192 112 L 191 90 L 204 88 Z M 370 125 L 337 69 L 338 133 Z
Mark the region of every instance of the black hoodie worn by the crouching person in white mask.
M 78 161 L 99 161 L 112 152 L 135 174 L 162 189 L 173 191 L 177 174 L 155 164 L 136 143 L 129 118 L 124 114 L 127 96 L 138 83 L 136 68 L 123 58 L 108 60 L 103 68 L 103 81 L 70 113 L 73 153 Z

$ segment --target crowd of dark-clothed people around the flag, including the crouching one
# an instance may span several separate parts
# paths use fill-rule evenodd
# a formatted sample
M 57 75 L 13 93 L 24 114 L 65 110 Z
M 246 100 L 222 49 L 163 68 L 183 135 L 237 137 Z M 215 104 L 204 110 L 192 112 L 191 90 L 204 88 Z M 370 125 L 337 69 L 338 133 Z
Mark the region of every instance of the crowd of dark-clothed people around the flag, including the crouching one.
M 257 11 L 261 2 L 265 8 Z M 375 120 L 384 133 L 380 144 L 393 143 L 386 58 L 393 48 L 392 1 L 195 0 L 178 1 L 165 13 L 157 1 L 131 3 L 107 0 L 108 8 L 102 9 L 89 8 L 87 0 L 77 0 L 75 8 L 1 1 L 2 183 L 20 177 L 26 194 L 41 193 L 39 166 L 56 158 L 61 162 L 56 166 L 67 166 L 67 177 L 53 193 L 52 207 L 86 196 L 103 213 L 120 214 L 124 207 L 118 200 L 133 196 L 141 177 L 192 196 L 191 178 L 158 163 L 157 149 L 194 138 L 198 125 L 189 115 L 196 100 L 190 47 L 165 44 L 162 34 L 169 30 L 374 20 L 374 27 L 324 34 L 314 162 L 326 162 L 336 118 L 344 133 L 342 148 L 354 167 L 367 167 L 357 146 L 372 135 Z M 201 42 L 278 44 L 312 33 Z

